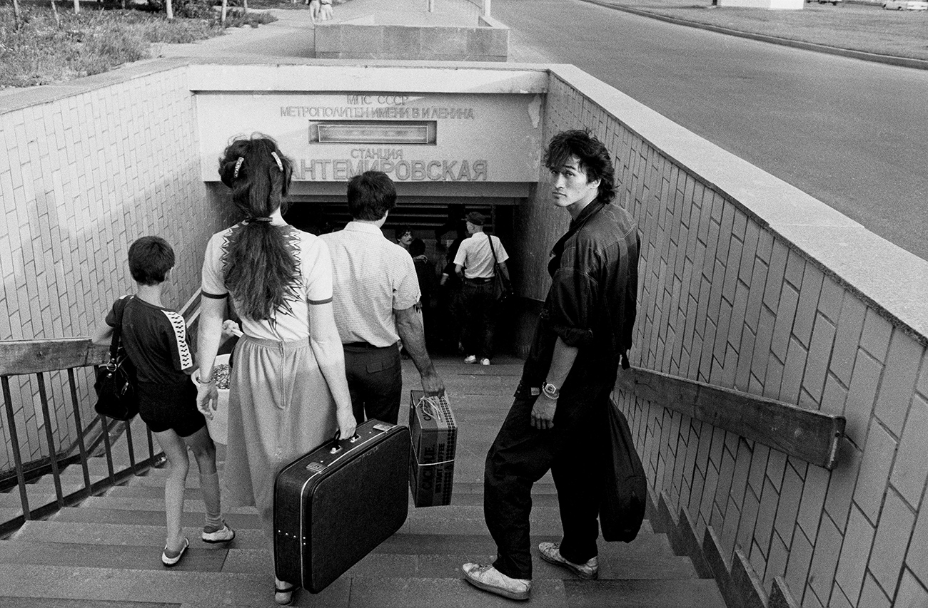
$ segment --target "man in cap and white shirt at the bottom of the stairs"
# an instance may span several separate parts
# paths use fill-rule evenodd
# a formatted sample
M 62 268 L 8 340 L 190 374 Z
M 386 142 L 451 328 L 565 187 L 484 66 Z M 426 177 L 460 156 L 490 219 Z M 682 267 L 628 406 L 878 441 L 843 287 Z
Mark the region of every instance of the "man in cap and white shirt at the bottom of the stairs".
M 468 238 L 461 241 L 455 256 L 455 272 L 463 279 L 465 363 L 489 365 L 493 357 L 493 333 L 499 306 L 493 290 L 496 263 L 509 279 L 509 254 L 498 236 L 483 233 L 485 218 L 479 211 L 465 216 Z

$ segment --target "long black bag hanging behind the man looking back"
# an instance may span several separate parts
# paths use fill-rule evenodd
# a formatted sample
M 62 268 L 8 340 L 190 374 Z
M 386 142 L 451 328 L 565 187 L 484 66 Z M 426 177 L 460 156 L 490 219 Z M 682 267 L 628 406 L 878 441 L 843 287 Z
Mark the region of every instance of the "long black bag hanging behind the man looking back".
M 601 442 L 605 453 L 599 527 L 604 540 L 631 542 L 644 521 L 648 485 L 625 414 L 611 399 L 608 421 Z

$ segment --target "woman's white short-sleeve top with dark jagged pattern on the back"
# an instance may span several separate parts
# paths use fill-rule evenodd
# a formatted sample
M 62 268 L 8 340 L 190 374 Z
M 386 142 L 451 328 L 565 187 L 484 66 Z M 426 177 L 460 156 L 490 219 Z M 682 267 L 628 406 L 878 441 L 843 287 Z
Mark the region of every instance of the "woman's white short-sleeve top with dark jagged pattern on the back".
M 230 297 L 235 310 L 241 302 L 231 297 L 226 288 L 226 255 L 229 243 L 243 224 L 236 224 L 213 234 L 203 259 L 202 289 L 204 298 Z M 297 260 L 297 277 L 293 289 L 277 308 L 270 320 L 245 317 L 239 312 L 242 331 L 246 336 L 290 342 L 308 337 L 309 306 L 332 301 L 332 261 L 329 247 L 315 234 L 304 233 L 290 225 L 280 227 Z

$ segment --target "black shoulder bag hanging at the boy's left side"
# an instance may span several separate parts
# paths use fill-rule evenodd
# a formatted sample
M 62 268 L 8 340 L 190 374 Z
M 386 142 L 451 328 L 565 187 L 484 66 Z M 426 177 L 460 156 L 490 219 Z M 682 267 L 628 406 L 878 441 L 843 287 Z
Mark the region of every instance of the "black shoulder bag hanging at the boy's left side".
M 138 395 L 135 392 L 135 367 L 129 361 L 120 343 L 122 311 L 125 302 L 117 306 L 116 325 L 110 341 L 110 362 L 97 367 L 97 405 L 94 410 L 114 420 L 130 420 L 138 413 Z

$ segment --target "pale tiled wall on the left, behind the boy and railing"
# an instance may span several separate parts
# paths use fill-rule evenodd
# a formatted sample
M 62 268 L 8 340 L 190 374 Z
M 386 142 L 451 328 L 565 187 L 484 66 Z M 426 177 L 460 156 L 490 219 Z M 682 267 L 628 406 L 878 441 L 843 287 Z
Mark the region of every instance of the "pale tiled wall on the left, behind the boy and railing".
M 202 204 L 193 109 L 186 68 L 165 61 L 0 96 L 0 340 L 91 335 L 133 290 L 126 255 L 144 234 L 174 247 L 166 302 L 195 292 L 206 240 L 228 218 Z M 48 384 L 67 446 L 76 436 L 62 375 Z M 38 389 L 11 384 L 21 455 L 37 459 L 47 454 Z M 0 445 L 2 472 L 13 466 L 6 415 Z

